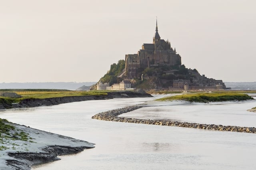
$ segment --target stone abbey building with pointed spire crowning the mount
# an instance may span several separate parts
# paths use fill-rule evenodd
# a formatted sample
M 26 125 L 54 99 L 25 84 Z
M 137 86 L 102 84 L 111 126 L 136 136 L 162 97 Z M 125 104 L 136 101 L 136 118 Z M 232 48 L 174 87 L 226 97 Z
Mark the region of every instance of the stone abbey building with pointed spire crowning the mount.
M 125 71 L 127 78 L 140 77 L 137 75 L 145 68 L 156 65 L 181 65 L 181 57 L 176 49 L 171 47 L 170 42 L 160 38 L 158 34 L 157 20 L 156 33 L 153 43 L 144 43 L 137 54 L 125 55 Z

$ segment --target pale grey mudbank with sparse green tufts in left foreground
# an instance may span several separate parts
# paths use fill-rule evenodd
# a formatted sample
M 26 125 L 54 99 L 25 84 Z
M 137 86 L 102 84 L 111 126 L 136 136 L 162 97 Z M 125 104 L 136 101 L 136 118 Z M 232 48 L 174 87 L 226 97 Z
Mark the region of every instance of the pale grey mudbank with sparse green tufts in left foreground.
M 84 140 L 15 123 L 6 124 L 13 126 L 14 129 L 1 136 L 1 170 L 30 170 L 33 164 L 60 160 L 58 155 L 73 154 L 94 148 L 93 143 Z

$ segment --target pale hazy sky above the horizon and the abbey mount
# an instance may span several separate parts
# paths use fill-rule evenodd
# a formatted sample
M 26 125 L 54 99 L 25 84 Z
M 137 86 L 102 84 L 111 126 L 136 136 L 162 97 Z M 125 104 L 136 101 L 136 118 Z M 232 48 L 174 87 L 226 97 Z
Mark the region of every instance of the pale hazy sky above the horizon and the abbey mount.
M 0 82 L 98 81 L 152 43 L 156 16 L 182 64 L 256 81 L 255 0 L 0 0 Z

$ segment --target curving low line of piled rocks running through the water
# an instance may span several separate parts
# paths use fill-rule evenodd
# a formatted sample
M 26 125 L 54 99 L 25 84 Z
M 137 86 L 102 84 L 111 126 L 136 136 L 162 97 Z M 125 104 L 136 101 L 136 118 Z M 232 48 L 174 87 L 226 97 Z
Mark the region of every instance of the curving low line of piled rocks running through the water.
M 188 123 L 188 122 L 172 121 L 169 119 L 159 120 L 159 119 L 134 119 L 134 118 L 118 117 L 118 115 L 121 115 L 123 113 L 128 113 L 130 111 L 134 111 L 142 107 L 144 106 L 133 105 L 133 106 L 128 106 L 120 109 L 114 109 L 111 111 L 101 112 L 94 115 L 92 119 L 99 119 L 104 121 L 115 121 L 115 122 L 140 123 L 140 124 L 148 124 L 148 125 L 163 125 L 163 126 L 199 128 L 199 129 L 231 131 L 231 132 L 256 133 L 255 127 L 239 127 L 239 126 L 223 126 L 223 125 L 214 125 L 214 124 Z

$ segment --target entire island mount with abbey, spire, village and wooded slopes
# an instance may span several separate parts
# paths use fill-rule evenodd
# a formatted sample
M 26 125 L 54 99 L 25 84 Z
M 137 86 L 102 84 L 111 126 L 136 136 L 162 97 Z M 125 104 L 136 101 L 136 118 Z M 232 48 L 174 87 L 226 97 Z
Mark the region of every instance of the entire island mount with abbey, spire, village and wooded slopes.
M 121 82 L 122 81 L 122 82 Z M 127 83 L 128 82 L 128 83 Z M 108 83 L 108 85 L 106 85 Z M 119 84 L 118 84 L 119 83 Z M 94 86 L 96 89 L 96 86 Z M 222 80 L 207 78 L 196 69 L 188 69 L 170 42 L 156 32 L 152 43 L 144 43 L 136 54 L 126 54 L 110 66 L 97 89 L 125 90 L 131 88 L 164 90 L 219 90 L 226 89 Z

